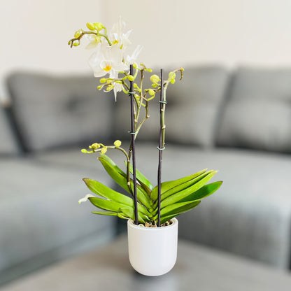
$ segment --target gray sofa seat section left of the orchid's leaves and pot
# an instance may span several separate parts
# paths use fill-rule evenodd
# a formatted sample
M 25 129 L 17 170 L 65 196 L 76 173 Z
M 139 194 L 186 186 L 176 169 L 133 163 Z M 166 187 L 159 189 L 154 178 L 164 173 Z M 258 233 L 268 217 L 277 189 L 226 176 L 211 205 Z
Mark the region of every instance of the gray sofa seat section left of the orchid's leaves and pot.
M 80 173 L 25 159 L 1 161 L 0 283 L 98 246 L 115 219 L 78 199 L 90 192 Z

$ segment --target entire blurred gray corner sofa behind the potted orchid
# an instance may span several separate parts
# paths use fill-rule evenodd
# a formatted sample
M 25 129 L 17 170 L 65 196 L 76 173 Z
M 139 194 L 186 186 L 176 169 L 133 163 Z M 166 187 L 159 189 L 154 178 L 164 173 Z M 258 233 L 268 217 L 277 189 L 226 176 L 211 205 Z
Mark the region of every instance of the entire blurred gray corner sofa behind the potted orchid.
M 113 186 L 80 148 L 129 139 L 129 101 L 97 92 L 91 76 L 12 73 L 0 111 L 0 283 L 113 239 L 117 220 L 93 215 L 81 178 Z M 290 268 L 291 69 L 185 68 L 169 87 L 163 180 L 218 169 L 220 190 L 179 217 L 179 234 Z M 157 173 L 157 100 L 137 141 L 137 163 Z M 108 155 L 120 166 L 119 152 Z

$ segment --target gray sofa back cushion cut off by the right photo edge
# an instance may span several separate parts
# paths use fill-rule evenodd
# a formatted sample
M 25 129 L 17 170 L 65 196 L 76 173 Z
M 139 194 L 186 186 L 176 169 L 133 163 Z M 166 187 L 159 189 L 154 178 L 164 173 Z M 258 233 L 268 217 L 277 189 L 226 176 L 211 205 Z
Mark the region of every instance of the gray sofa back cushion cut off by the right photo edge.
M 291 69 L 236 71 L 218 145 L 291 152 Z

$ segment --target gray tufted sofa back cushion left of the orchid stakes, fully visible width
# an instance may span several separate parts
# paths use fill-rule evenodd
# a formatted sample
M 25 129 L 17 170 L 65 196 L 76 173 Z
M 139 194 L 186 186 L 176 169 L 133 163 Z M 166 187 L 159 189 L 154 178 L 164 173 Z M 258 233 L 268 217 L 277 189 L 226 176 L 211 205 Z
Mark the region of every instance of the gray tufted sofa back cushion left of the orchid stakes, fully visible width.
M 7 85 L 26 150 L 87 146 L 111 133 L 114 97 L 98 92 L 94 77 L 13 73 Z

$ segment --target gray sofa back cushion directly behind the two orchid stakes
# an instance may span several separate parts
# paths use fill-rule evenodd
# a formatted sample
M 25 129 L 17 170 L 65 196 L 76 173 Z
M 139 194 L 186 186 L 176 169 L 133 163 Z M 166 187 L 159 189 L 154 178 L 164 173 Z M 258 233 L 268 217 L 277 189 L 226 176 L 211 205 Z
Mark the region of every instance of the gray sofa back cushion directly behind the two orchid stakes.
M 164 70 L 165 79 L 170 70 Z M 154 71 L 159 76 L 159 71 Z M 148 88 L 152 73 L 146 75 L 143 88 Z M 170 84 L 166 90 L 166 141 L 211 147 L 214 143 L 215 123 L 220 104 L 225 97 L 229 74 L 220 66 L 185 67 L 183 80 Z M 129 139 L 129 98 L 122 97 L 116 104 L 115 134 Z M 144 113 L 144 111 L 143 111 Z M 139 139 L 159 141 L 159 93 L 150 101 L 150 118 L 141 129 Z M 126 121 L 127 120 L 127 121 Z

